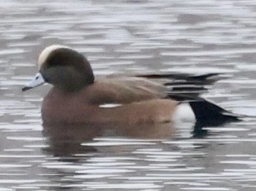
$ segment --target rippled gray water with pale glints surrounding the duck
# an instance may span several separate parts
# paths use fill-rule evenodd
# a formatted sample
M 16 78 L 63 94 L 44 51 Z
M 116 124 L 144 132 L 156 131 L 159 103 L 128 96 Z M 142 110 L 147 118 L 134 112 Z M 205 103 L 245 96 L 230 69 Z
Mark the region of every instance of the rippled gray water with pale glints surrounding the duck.
M 39 52 L 62 44 L 83 52 L 96 75 L 226 72 L 203 96 L 256 116 L 256 2 L 2 0 L 0 13 L 1 191 L 256 190 L 253 118 L 201 138 L 81 127 L 45 134 L 40 106 L 50 85 L 20 91 Z

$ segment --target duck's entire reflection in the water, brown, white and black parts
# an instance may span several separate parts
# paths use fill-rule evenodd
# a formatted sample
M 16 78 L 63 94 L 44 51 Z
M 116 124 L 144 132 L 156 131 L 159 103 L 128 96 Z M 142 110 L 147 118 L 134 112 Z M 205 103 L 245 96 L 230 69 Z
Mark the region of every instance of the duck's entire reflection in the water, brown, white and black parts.
M 143 125 L 126 125 L 119 124 L 111 127 L 94 126 L 86 124 L 45 124 L 43 123 L 43 134 L 47 138 L 48 148 L 53 156 L 74 156 L 75 154 L 85 154 L 88 152 L 98 152 L 95 146 L 86 146 L 86 144 L 94 141 L 97 137 L 125 137 L 133 141 L 133 139 L 156 139 L 164 140 L 177 138 L 177 134 L 185 132 L 188 137 L 205 137 L 208 131 L 205 127 L 216 127 L 224 125 L 226 122 L 234 120 L 223 120 L 217 118 L 205 123 L 173 123 L 166 122 L 161 124 L 143 124 Z M 239 121 L 239 119 L 235 120 Z M 185 127 L 185 128 L 184 128 Z M 180 137 L 183 137 L 180 136 Z

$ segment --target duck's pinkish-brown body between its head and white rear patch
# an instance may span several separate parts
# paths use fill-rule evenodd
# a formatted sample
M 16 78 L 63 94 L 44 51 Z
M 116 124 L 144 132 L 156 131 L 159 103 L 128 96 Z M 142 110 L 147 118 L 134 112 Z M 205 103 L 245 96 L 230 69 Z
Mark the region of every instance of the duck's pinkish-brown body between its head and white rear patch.
M 171 122 L 177 102 L 162 99 L 164 91 L 160 94 L 148 85 L 98 81 L 77 92 L 52 88 L 42 103 L 42 117 L 45 122 L 89 125 Z

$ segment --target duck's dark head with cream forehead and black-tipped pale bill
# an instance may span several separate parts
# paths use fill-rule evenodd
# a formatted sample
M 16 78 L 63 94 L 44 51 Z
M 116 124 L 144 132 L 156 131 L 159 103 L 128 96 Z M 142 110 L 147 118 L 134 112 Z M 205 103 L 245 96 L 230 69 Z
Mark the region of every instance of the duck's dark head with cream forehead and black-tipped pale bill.
M 94 82 L 89 61 L 83 54 L 62 45 L 51 45 L 39 55 L 39 72 L 22 88 L 27 91 L 45 82 L 63 91 L 79 91 Z

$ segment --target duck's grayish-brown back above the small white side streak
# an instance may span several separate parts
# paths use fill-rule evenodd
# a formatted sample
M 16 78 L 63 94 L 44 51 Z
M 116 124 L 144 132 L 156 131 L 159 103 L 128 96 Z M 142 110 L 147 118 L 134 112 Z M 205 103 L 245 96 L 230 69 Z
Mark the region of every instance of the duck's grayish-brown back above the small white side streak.
M 93 104 L 133 103 L 167 97 L 167 87 L 161 82 L 136 77 L 99 79 L 84 91 Z

